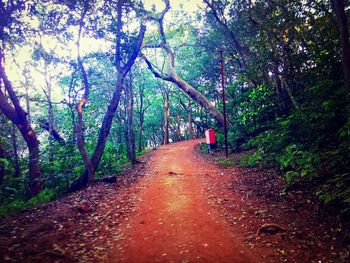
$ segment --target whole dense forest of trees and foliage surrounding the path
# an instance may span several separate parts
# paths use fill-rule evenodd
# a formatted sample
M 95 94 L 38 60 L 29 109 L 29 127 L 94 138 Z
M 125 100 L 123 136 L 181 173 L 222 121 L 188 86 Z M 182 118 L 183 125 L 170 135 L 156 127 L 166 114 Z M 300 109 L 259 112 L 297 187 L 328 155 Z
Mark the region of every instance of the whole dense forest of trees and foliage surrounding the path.
M 229 152 L 349 216 L 349 1 L 147 2 L 0 2 L 0 213 L 222 146 L 223 62 Z

